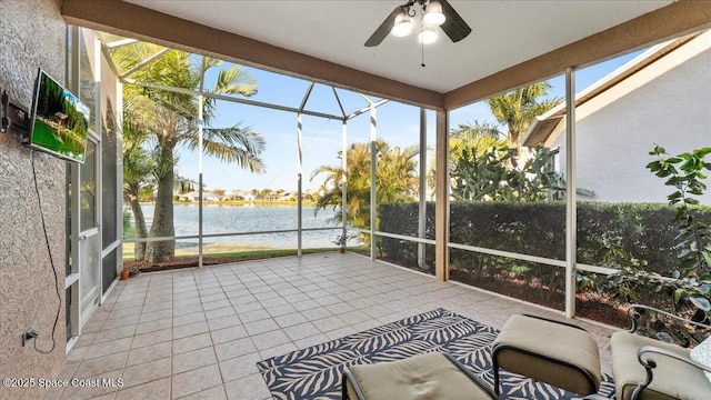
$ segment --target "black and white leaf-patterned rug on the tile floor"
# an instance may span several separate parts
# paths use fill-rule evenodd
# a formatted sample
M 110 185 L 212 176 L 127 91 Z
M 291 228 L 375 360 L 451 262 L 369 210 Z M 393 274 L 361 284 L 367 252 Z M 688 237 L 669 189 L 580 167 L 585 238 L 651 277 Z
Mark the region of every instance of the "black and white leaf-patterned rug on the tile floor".
M 491 343 L 497 329 L 444 309 L 391 322 L 257 363 L 276 399 L 340 399 L 344 367 L 440 351 L 448 352 L 493 387 Z M 531 379 L 501 373 L 502 399 L 575 399 Z M 612 378 L 603 374 L 600 394 L 612 398 Z

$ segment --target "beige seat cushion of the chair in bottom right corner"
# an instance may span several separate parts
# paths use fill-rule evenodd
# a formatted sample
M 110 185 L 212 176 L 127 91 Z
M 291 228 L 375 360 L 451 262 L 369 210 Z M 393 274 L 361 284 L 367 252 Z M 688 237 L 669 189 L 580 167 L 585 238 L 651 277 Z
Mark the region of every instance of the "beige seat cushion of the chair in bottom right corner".
M 644 367 L 637 358 L 637 351 L 642 346 L 654 346 L 689 358 L 689 349 L 639 334 L 615 332 L 610 340 L 610 348 L 618 400 L 631 399 L 634 388 L 647 377 Z M 661 354 L 650 357 L 657 361 L 657 368 L 652 370 L 652 383 L 640 393 L 639 400 L 711 399 L 711 382 L 700 369 Z

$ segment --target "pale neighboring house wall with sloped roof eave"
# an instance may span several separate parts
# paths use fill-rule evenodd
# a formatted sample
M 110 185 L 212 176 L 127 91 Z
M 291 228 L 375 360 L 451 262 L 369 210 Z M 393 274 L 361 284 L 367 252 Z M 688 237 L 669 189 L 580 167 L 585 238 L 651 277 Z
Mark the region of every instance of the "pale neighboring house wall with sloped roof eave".
M 575 110 L 577 187 L 595 192 L 579 200 L 667 201 L 673 189 L 645 168 L 649 151 L 655 143 L 674 156 L 711 146 L 710 49 L 707 32 Z M 561 171 L 564 123 L 545 143 L 560 147 Z M 711 204 L 711 190 L 702 203 Z

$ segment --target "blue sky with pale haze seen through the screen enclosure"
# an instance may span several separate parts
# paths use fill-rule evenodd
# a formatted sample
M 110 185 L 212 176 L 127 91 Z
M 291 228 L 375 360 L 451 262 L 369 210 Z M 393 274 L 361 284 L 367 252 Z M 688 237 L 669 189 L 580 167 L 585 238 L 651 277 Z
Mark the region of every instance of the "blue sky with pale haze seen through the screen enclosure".
M 575 71 L 577 92 L 585 89 L 614 69 L 629 61 L 640 51 L 628 53 L 605 62 L 597 63 Z M 232 64 L 223 63 L 223 68 Z M 304 100 L 310 82 L 292 77 L 281 76 L 256 68 L 240 67 L 249 71 L 258 82 L 258 93 L 249 98 L 253 101 L 274 103 L 298 109 Z M 206 88 L 214 82 L 214 74 L 206 78 Z M 552 89 L 550 97 L 564 98 L 564 76 L 549 80 Z M 336 90 L 347 114 L 368 107 L 368 102 L 359 93 L 348 90 Z M 369 98 L 378 101 L 378 98 Z M 306 109 L 332 116 L 341 116 L 341 110 L 328 86 L 317 83 L 311 91 Z M 378 138 L 384 139 L 391 147 L 407 147 L 419 141 L 419 108 L 390 101 L 377 109 Z M 231 127 L 240 123 L 260 133 L 266 141 L 266 151 L 261 154 L 266 170 L 252 173 L 234 163 L 224 163 L 211 157 L 203 157 L 203 183 L 207 190 L 224 189 L 228 193 L 234 189 L 250 191 L 269 188 L 283 189 L 287 192 L 297 190 L 298 160 L 296 112 L 267 109 L 256 106 L 238 104 L 220 101 L 218 113 L 211 123 L 216 128 Z M 348 143 L 367 142 L 370 138 L 369 113 L 365 112 L 347 126 Z M 483 102 L 477 102 L 450 113 L 450 128 L 467 122 L 492 122 L 505 131 L 505 126 L 497 122 Z M 340 120 L 302 117 L 302 190 L 317 190 L 322 183 L 323 174 L 311 179 L 312 172 L 320 166 L 340 166 L 338 152 L 342 148 L 342 123 Z M 433 159 L 434 149 L 434 112 L 428 111 L 428 160 Z M 177 162 L 181 177 L 198 181 L 199 161 L 197 151 L 178 149 Z M 429 161 L 428 161 L 429 162 Z

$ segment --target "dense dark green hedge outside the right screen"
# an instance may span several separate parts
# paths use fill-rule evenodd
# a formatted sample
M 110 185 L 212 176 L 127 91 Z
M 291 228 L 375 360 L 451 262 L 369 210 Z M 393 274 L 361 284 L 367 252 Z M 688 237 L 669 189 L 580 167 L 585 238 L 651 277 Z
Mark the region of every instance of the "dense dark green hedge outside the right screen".
M 697 208 L 711 223 L 711 207 Z M 671 223 L 675 209 L 659 203 L 578 203 L 578 262 L 619 268 L 637 264 L 668 274 L 677 263 L 673 250 L 677 228 Z M 434 238 L 434 203 L 427 204 L 427 238 Z M 390 203 L 379 209 L 380 230 L 418 236 L 418 204 Z M 450 241 L 543 258 L 565 259 L 564 202 L 452 202 Z M 389 260 L 417 266 L 417 243 L 382 238 Z M 428 264 L 434 264 L 428 251 Z M 492 258 L 469 251 L 451 252 L 457 268 L 494 276 L 517 268 L 521 261 Z M 527 270 L 538 276 L 527 263 Z M 550 269 L 550 268 L 549 268 Z

